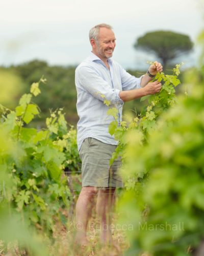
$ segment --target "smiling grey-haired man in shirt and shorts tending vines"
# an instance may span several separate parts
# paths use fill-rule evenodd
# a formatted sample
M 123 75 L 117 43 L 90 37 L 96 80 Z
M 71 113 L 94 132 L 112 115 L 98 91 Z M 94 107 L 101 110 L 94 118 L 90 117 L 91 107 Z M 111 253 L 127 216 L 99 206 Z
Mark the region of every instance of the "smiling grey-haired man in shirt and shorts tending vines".
M 116 46 L 112 27 L 99 24 L 89 32 L 91 55 L 75 71 L 78 100 L 78 150 L 82 159 L 82 190 L 76 206 L 77 235 L 81 245 L 87 245 L 88 220 L 97 196 L 96 212 L 101 222 L 101 242 L 112 242 L 110 230 L 111 208 L 116 187 L 122 187 L 117 173 L 120 160 L 109 166 L 117 141 L 108 132 L 113 117 L 107 115 L 109 100 L 118 109 L 118 125 L 122 116 L 123 102 L 158 93 L 161 83 L 150 82 L 162 65 L 155 62 L 147 74 L 136 78 L 127 73 L 119 63 L 110 59 Z

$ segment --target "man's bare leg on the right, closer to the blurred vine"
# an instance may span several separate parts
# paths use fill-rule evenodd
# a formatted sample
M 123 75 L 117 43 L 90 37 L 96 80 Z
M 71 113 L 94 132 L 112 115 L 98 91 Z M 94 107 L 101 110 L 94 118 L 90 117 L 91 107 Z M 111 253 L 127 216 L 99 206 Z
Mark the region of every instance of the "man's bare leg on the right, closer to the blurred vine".
M 96 212 L 100 218 L 101 223 L 101 242 L 102 243 L 112 243 L 112 233 L 110 225 L 112 223 L 112 213 L 114 207 L 115 199 L 115 187 L 109 187 L 104 189 L 99 189 Z

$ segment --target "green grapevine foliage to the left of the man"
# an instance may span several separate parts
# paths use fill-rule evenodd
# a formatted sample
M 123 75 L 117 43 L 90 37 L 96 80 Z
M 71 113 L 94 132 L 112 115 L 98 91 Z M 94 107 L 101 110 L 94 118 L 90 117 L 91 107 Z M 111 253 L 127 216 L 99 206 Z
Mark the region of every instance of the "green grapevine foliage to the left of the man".
M 1 79 L 7 80 L 6 75 Z M 62 109 L 46 118 L 45 129 L 27 126 L 39 114 L 32 100 L 40 94 L 39 84 L 45 82 L 42 77 L 33 83 L 15 111 L 0 105 L 0 241 L 5 243 L 4 253 L 7 243 L 16 241 L 29 254 L 48 253 L 39 236 L 52 238 L 55 223 L 66 223 L 64 209 L 70 206 L 63 171 L 78 170 L 81 164 L 76 131 L 67 128 Z

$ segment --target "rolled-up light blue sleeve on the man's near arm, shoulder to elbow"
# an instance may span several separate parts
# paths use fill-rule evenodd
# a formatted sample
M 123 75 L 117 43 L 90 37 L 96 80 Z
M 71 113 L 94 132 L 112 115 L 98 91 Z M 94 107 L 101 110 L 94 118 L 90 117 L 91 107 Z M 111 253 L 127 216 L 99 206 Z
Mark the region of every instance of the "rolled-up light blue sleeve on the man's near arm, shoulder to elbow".
M 110 87 L 110 84 L 104 80 L 97 71 L 88 66 L 79 67 L 75 73 L 76 84 L 90 93 L 98 100 L 105 99 L 111 102 L 111 105 L 123 104 L 123 100 L 119 97 L 120 90 Z

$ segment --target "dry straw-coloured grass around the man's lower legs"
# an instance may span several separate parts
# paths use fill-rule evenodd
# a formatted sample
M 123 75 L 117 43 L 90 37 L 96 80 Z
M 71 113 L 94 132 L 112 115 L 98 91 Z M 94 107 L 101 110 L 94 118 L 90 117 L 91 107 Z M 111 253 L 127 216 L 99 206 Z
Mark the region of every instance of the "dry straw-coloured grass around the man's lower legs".
M 117 222 L 116 214 L 114 216 L 113 223 Z M 123 255 L 125 249 L 129 247 L 129 244 L 125 238 L 125 232 L 119 229 L 111 229 L 114 240 L 114 245 L 101 245 L 99 242 L 100 235 L 100 223 L 96 217 L 95 211 L 92 212 L 92 216 L 89 220 L 87 237 L 90 245 L 87 247 L 81 247 L 74 243 L 75 226 L 74 220 L 67 221 L 67 225 L 62 226 L 58 224 L 54 233 L 55 244 L 49 247 L 50 255 L 59 256 L 81 256 L 81 255 L 97 255 L 97 256 L 117 256 Z

